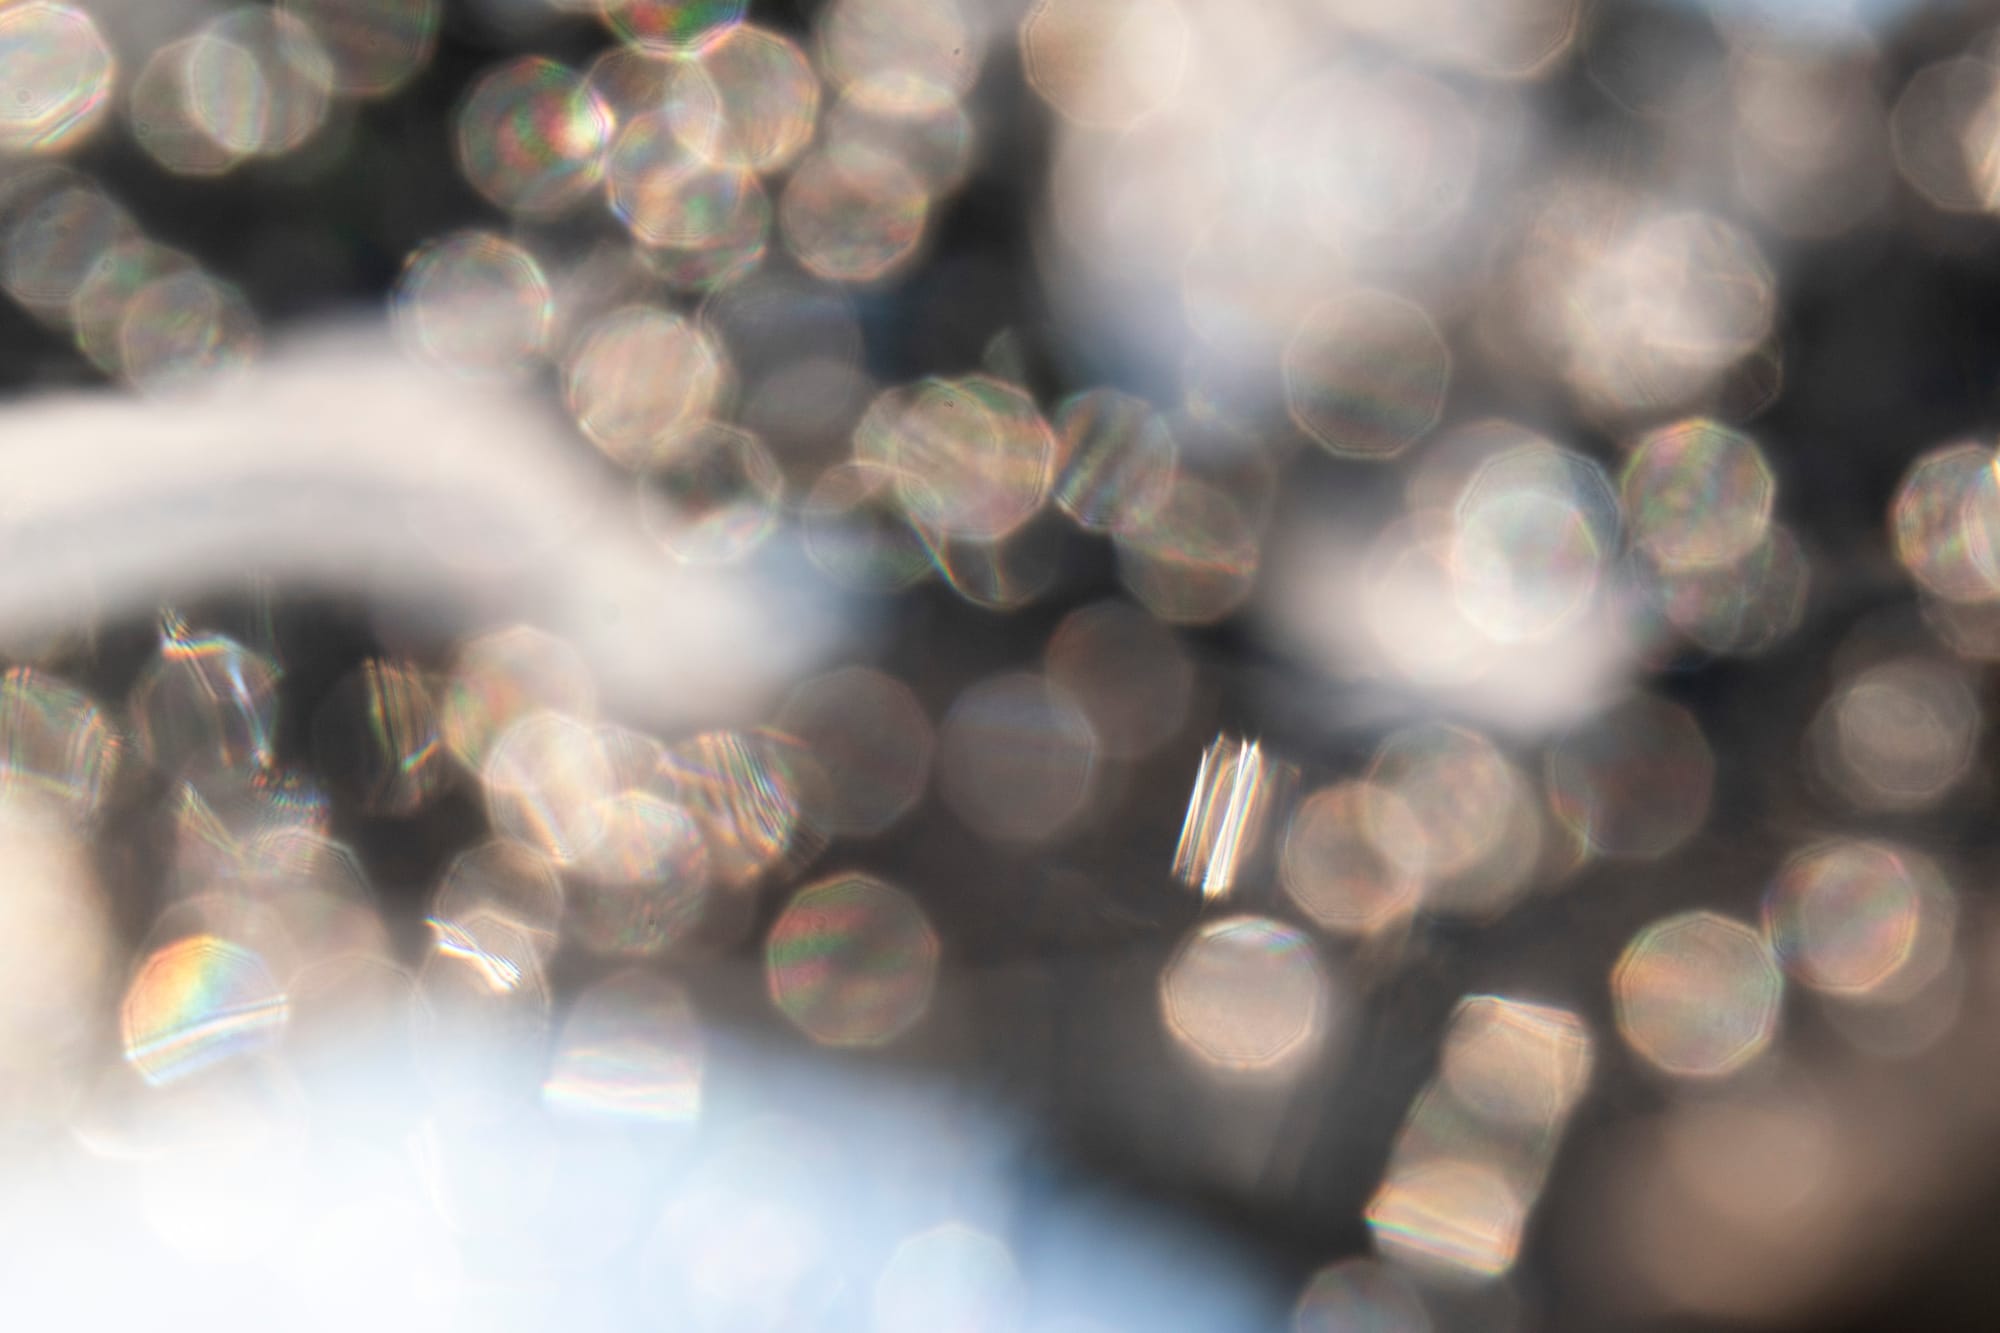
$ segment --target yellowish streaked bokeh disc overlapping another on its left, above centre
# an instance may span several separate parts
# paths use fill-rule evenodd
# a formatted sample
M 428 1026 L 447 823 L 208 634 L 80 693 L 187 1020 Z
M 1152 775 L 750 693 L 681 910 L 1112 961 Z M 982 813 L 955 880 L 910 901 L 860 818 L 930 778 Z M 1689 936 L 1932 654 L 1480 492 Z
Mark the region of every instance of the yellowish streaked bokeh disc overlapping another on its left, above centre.
M 1024 390 L 974 374 L 880 394 L 854 456 L 894 478 L 916 528 L 994 542 L 1048 496 L 1056 438 Z

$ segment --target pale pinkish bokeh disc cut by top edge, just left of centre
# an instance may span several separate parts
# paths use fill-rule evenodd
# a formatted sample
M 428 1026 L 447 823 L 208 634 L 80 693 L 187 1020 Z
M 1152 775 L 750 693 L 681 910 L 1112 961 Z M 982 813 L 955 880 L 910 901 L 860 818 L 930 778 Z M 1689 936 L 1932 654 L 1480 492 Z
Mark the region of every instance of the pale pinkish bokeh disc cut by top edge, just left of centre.
M 836 0 L 820 16 L 828 80 L 886 110 L 966 96 L 984 60 L 984 30 L 958 0 Z

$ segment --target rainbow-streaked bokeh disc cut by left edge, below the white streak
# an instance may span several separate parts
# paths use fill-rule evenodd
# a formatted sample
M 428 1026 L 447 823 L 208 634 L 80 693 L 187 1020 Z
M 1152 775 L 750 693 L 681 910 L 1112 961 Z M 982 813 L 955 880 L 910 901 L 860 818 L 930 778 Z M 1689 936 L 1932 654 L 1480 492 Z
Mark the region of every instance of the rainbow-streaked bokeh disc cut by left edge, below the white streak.
M 102 709 L 74 685 L 30 666 L 0 677 L 0 795 L 46 801 L 70 823 L 104 805 L 122 753 Z

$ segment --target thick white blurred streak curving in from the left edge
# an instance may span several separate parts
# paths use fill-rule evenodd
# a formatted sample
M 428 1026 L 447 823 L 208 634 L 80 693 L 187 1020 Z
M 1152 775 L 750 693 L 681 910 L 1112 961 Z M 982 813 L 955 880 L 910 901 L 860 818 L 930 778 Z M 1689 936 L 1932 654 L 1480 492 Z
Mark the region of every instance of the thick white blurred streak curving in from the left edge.
M 0 636 L 68 624 L 82 590 L 142 614 L 254 570 L 440 632 L 532 620 L 650 725 L 750 715 L 834 636 L 796 578 L 664 560 L 542 404 L 412 366 L 380 328 L 272 348 L 218 392 L 30 398 L 0 422 Z

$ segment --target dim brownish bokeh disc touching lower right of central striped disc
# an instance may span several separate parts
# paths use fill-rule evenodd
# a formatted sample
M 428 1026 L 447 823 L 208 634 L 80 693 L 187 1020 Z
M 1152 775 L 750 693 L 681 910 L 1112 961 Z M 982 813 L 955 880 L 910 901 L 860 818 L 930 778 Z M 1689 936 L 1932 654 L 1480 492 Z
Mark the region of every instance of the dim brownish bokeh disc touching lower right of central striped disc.
M 1262 560 L 1260 514 L 1198 476 L 1116 534 L 1118 580 L 1168 624 L 1214 624 L 1242 606 Z

